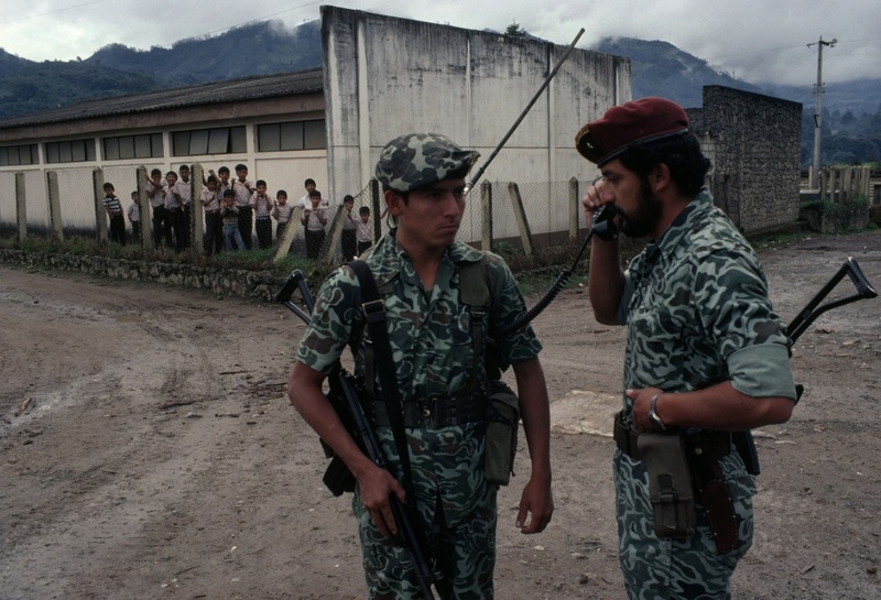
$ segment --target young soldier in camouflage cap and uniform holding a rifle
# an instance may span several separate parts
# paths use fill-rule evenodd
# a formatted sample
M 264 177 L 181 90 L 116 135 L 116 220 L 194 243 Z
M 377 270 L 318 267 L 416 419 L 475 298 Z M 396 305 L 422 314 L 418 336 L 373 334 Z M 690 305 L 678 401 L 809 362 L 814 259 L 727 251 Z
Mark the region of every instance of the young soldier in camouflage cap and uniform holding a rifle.
M 294 406 L 357 479 L 352 509 L 371 599 L 413 598 L 418 589 L 406 555 L 389 543 L 390 532 L 396 531 L 388 501 L 392 493 L 416 502 L 429 553 L 443 572 L 435 585 L 438 593 L 449 599 L 493 597 L 497 487 L 483 476 L 486 389 L 481 384 L 477 393 L 468 390 L 472 374 L 481 382 L 486 378 L 483 357 L 475 356 L 472 348 L 471 308 L 460 298 L 460 266 L 486 257 L 491 304 L 482 317 L 485 331 L 502 330 L 524 310 L 524 303 L 500 257 L 455 242 L 465 209 L 465 176 L 477 156 L 444 135 L 410 134 L 392 140 L 377 164 L 396 228 L 361 258 L 385 304 L 401 397 L 405 405 L 432 396 L 468 397 L 475 407 L 463 410 L 458 423 L 425 419 L 407 426 L 416 498 L 405 498 L 400 483 L 391 428 L 376 427 L 390 473 L 361 454 L 322 394 L 324 379 L 347 345 L 356 349 L 356 371 L 365 371 L 365 345 L 359 345 L 365 324 L 351 268 L 340 268 L 322 286 L 289 382 Z M 526 534 L 539 533 L 553 512 L 541 345 L 529 327 L 496 342 L 516 377 L 532 461 L 516 526 Z M 379 389 L 379 381 L 374 385 Z

